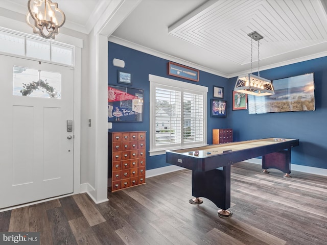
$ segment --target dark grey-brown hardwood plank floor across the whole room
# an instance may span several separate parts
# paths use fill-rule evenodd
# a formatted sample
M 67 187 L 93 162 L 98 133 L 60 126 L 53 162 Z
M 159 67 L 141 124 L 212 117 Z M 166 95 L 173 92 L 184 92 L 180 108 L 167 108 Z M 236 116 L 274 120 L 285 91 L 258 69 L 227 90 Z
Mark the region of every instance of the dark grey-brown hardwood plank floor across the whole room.
M 190 170 L 148 178 L 95 204 L 87 194 L 0 213 L 0 231 L 41 234 L 42 245 L 251 244 L 325 245 L 327 178 L 261 166 L 231 167 L 232 216 L 219 218 L 204 199 L 189 204 Z

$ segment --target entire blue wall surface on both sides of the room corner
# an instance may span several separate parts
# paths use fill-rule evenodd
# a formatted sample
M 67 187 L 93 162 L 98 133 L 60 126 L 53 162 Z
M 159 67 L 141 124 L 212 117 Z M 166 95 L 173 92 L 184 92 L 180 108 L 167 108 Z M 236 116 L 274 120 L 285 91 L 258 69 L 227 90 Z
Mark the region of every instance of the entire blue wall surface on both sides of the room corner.
M 232 111 L 231 92 L 236 78 L 226 79 L 204 71 L 200 71 L 199 82 L 169 76 L 167 63 L 169 60 L 148 55 L 131 48 L 109 42 L 108 84 L 117 83 L 117 70 L 132 74 L 131 87 L 144 90 L 143 122 L 113 122 L 112 132 L 118 131 L 147 131 L 147 169 L 168 166 L 166 156 L 149 156 L 149 74 L 171 78 L 183 82 L 196 83 L 208 87 L 207 104 L 213 98 L 213 85 L 224 87 L 224 100 L 227 100 L 227 117 L 210 117 L 210 108 L 207 109 L 207 143 L 212 143 L 212 129 L 232 128 L 235 141 L 256 138 L 277 137 L 297 138 L 300 145 L 292 150 L 292 163 L 320 168 L 327 168 L 324 153 L 327 152 L 326 121 L 327 98 L 327 57 L 282 66 L 260 72 L 262 77 L 270 80 L 297 76 L 314 72 L 316 110 L 308 112 L 284 112 L 249 115 L 247 110 Z M 113 58 L 125 61 L 125 68 L 114 67 Z M 326 81 L 323 83 L 323 81 Z M 128 86 L 128 85 L 126 85 Z

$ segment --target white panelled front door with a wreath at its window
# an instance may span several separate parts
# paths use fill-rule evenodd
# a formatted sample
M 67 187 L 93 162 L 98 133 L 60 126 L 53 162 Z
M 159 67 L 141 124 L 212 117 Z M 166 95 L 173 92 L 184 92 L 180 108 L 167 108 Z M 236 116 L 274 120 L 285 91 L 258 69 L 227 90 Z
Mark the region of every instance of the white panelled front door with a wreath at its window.
M 74 69 L 0 55 L 0 81 L 0 208 L 72 193 Z

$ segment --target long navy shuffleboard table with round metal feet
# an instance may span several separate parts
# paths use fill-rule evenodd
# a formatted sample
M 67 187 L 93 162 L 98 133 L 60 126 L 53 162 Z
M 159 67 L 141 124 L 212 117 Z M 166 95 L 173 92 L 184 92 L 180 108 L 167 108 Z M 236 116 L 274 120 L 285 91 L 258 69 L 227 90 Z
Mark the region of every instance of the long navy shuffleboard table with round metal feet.
M 191 204 L 200 204 L 200 197 L 211 200 L 223 218 L 232 213 L 230 208 L 230 166 L 233 163 L 262 156 L 263 173 L 276 168 L 290 177 L 291 148 L 299 145 L 298 139 L 266 138 L 197 148 L 168 150 L 166 162 L 192 170 Z

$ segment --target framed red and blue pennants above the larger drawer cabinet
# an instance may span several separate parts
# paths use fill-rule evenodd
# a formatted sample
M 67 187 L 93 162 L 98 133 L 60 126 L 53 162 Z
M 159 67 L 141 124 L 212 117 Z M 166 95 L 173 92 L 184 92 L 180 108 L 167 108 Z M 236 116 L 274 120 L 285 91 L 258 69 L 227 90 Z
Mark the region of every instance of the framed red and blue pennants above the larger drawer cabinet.
M 108 85 L 108 122 L 143 121 L 143 89 Z

